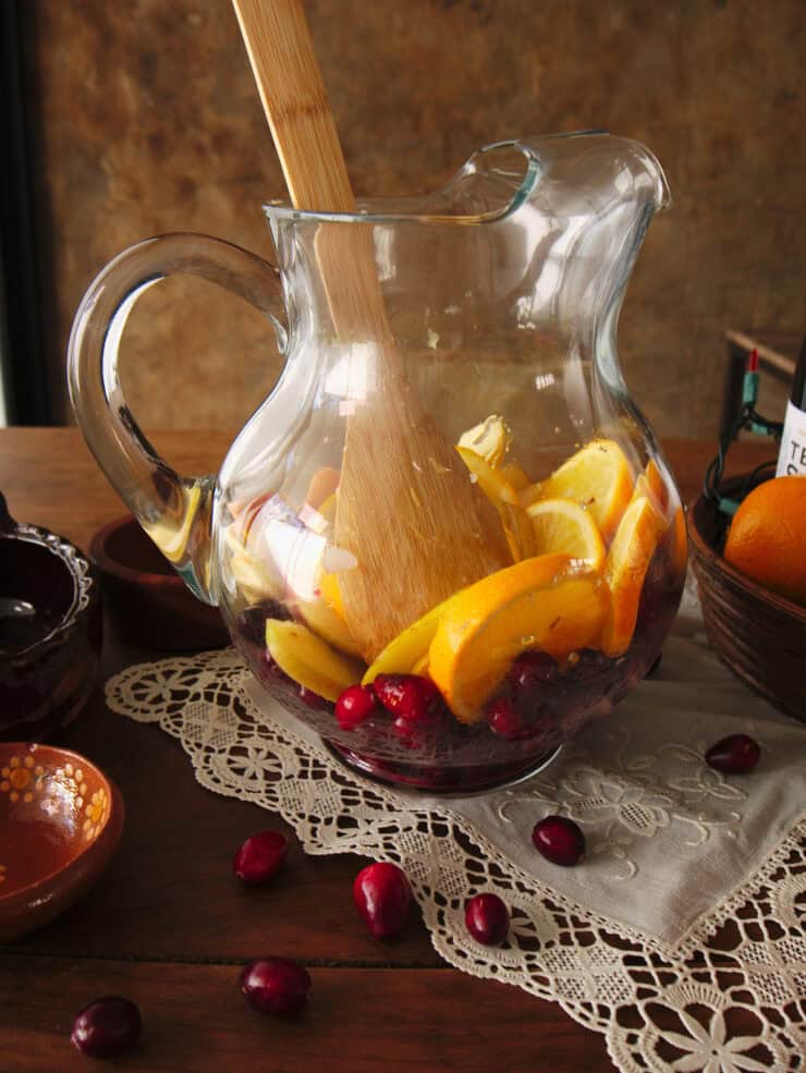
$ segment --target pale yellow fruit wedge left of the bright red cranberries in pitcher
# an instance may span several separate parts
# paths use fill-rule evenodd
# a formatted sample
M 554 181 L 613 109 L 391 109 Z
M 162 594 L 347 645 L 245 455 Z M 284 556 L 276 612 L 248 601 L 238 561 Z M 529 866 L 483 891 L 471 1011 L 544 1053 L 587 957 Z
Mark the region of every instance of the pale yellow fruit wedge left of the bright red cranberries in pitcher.
M 266 646 L 283 673 L 327 700 L 338 700 L 349 685 L 361 681 L 363 663 L 334 651 L 300 622 L 269 619 Z

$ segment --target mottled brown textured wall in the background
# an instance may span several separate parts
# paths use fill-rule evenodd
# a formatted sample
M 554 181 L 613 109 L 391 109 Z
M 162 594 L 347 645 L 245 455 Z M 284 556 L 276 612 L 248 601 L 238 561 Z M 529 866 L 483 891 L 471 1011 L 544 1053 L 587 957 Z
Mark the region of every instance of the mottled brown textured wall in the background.
M 306 9 L 359 194 L 429 188 L 513 135 L 602 126 L 656 153 L 674 204 L 650 228 L 620 351 L 660 435 L 715 431 L 725 327 L 806 329 L 803 0 Z M 229 0 L 26 10 L 58 367 L 113 254 L 176 230 L 268 252 L 258 206 L 283 186 Z M 211 284 L 155 288 L 125 344 L 132 409 L 146 427 L 239 426 L 277 375 L 270 343 Z

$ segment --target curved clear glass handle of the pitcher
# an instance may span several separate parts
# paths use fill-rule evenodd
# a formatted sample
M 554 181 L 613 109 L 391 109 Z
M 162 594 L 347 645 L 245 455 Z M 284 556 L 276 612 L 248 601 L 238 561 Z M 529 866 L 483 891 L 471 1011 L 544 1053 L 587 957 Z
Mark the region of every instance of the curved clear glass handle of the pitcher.
M 87 446 L 162 554 L 207 603 L 215 474 L 182 477 L 143 435 L 123 397 L 118 355 L 129 314 L 152 283 L 187 273 L 234 291 L 268 315 L 278 349 L 286 330 L 279 272 L 240 246 L 200 234 L 146 239 L 124 249 L 94 280 L 68 347 L 70 401 Z

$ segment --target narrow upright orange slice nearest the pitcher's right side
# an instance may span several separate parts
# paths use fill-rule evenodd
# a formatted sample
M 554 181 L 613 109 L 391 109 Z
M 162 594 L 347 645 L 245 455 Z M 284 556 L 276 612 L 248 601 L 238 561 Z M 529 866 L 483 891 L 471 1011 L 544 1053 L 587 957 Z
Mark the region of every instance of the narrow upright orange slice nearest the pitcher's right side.
M 652 503 L 646 496 L 637 496 L 624 512 L 604 563 L 612 595 L 601 639 L 606 656 L 621 656 L 630 647 L 644 577 L 662 532 Z

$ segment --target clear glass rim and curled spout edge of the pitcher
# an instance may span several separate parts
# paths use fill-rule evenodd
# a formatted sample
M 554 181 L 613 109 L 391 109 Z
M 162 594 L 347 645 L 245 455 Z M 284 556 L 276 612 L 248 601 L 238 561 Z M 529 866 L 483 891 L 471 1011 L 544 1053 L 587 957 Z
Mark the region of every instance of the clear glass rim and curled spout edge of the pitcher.
M 651 150 L 647 149 L 640 143 L 633 138 L 624 138 L 618 135 L 611 135 L 610 131 L 593 127 L 590 130 L 583 131 L 569 131 L 566 133 L 560 134 L 541 134 L 535 141 L 539 142 L 553 142 L 553 141 L 570 141 L 573 138 L 584 138 L 584 137 L 613 137 L 615 141 L 631 143 L 637 145 L 642 150 L 655 162 L 660 174 L 660 184 L 662 194 L 657 200 L 657 208 L 664 208 L 669 204 L 669 193 L 668 186 L 665 184 L 665 179 L 663 176 L 662 169 L 658 163 L 655 155 Z M 382 198 L 382 197 L 371 197 L 358 199 L 358 208 L 355 212 L 326 212 L 318 209 L 297 209 L 289 205 L 282 198 L 277 200 L 268 200 L 261 204 L 262 211 L 267 217 L 270 224 L 279 222 L 300 222 L 300 223 L 369 223 L 369 224 L 402 224 L 402 223 L 432 223 L 432 224 L 448 224 L 456 227 L 468 227 L 468 225 L 479 225 L 496 223 L 501 220 L 505 220 L 508 217 L 512 216 L 517 209 L 528 200 L 535 191 L 535 186 L 540 178 L 541 158 L 540 154 L 529 145 L 526 138 L 503 138 L 499 142 L 491 142 L 488 145 L 481 146 L 481 148 L 476 149 L 473 155 L 465 161 L 464 164 L 456 171 L 448 183 L 444 185 L 450 185 L 450 183 L 455 182 L 463 175 L 472 174 L 477 169 L 476 161 L 486 153 L 492 153 L 498 149 L 515 149 L 523 154 L 525 159 L 525 172 L 520 185 L 514 191 L 513 195 L 501 206 L 494 209 L 490 209 L 487 212 L 479 214 L 462 214 L 462 212 L 404 212 L 404 211 L 383 211 L 382 206 L 386 203 L 394 203 L 399 200 L 401 203 L 407 200 L 407 198 Z M 427 196 L 427 195 L 426 195 Z M 412 198 L 415 200 L 415 198 Z M 381 208 L 380 211 L 371 211 L 371 206 L 378 206 Z

